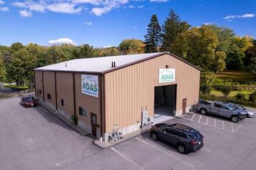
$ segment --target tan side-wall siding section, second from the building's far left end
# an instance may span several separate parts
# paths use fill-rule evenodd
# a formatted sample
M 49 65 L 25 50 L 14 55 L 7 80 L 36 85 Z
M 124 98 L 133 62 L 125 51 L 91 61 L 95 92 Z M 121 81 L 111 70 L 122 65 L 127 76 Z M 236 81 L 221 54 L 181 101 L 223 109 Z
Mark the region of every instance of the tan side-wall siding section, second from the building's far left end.
M 45 101 L 55 106 L 55 78 L 54 72 L 43 72 L 43 88 Z M 50 99 L 47 98 L 50 94 Z

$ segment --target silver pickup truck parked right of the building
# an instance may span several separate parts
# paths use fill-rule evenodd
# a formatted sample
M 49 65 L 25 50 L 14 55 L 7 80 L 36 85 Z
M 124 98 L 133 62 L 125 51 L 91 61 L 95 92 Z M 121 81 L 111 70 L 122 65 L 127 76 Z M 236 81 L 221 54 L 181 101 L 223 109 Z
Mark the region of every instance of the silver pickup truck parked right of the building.
M 197 109 L 202 115 L 206 115 L 207 113 L 219 115 L 225 118 L 230 118 L 234 123 L 238 123 L 239 120 L 242 120 L 247 116 L 247 113 L 242 109 L 234 108 L 231 103 L 222 101 L 214 101 L 212 103 L 208 101 L 199 101 Z

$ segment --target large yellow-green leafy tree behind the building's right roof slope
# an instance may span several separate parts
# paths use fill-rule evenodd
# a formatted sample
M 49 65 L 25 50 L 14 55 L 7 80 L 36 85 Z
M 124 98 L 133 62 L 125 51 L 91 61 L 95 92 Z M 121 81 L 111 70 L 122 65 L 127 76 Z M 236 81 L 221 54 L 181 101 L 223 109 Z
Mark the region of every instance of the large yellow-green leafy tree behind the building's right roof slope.
M 178 35 L 171 52 L 201 68 L 203 72 L 219 72 L 225 68 L 225 52 L 216 51 L 217 35 L 202 26 Z

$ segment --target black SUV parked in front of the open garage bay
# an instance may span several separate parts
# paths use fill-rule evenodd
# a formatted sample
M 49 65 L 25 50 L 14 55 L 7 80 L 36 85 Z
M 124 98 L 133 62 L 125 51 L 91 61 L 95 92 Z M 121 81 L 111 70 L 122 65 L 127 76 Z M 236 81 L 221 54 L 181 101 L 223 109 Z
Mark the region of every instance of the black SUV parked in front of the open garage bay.
M 178 123 L 153 125 L 149 134 L 153 140 L 163 140 L 175 145 L 181 154 L 196 152 L 203 147 L 203 135 L 198 130 Z

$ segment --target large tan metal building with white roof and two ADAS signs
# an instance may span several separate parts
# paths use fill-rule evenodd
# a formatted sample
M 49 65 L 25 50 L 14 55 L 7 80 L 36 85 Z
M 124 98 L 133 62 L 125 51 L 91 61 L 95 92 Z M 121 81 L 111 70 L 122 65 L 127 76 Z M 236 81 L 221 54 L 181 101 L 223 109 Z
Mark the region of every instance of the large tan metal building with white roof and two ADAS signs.
M 196 105 L 200 69 L 169 52 L 70 60 L 34 69 L 36 98 L 100 140 L 182 115 Z

